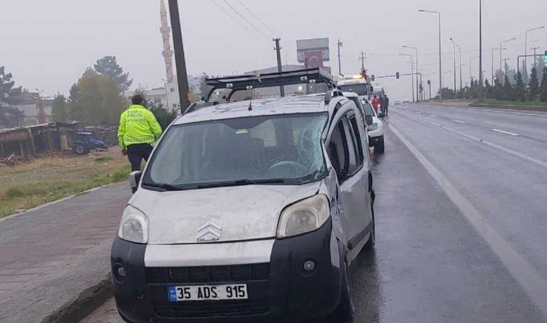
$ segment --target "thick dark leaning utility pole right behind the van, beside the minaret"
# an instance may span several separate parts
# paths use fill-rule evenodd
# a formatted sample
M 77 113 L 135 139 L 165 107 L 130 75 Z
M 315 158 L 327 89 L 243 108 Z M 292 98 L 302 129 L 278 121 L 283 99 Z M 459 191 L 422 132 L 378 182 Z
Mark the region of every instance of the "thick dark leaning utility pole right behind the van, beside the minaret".
M 184 44 L 182 42 L 181 16 L 178 12 L 177 0 L 169 0 L 169 13 L 171 16 L 171 28 L 173 31 L 174 61 L 177 65 L 178 93 L 181 99 L 181 113 L 190 105 L 188 95 L 188 71 L 186 69 L 186 57 L 184 56 Z

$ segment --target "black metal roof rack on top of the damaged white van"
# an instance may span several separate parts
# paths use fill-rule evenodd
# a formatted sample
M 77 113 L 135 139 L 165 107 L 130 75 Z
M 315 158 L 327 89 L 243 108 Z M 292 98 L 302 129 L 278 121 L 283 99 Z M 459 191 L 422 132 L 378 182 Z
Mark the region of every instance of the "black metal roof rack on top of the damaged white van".
M 322 68 L 299 69 L 297 71 L 276 72 L 265 74 L 234 75 L 222 78 L 207 78 L 205 84 L 211 86 L 206 101 L 209 101 L 214 91 L 230 89 L 231 96 L 237 91 L 260 89 L 261 87 L 274 87 L 283 85 L 317 84 L 324 83 L 329 89 L 335 89 L 333 75 Z

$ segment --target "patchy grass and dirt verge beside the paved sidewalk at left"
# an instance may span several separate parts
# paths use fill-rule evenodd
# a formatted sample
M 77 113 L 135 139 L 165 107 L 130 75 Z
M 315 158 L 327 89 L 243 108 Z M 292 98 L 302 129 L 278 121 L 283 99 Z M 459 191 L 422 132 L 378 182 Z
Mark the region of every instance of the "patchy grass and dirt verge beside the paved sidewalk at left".
M 123 181 L 129 161 L 118 147 L 87 156 L 49 156 L 0 167 L 0 218 L 93 187 Z

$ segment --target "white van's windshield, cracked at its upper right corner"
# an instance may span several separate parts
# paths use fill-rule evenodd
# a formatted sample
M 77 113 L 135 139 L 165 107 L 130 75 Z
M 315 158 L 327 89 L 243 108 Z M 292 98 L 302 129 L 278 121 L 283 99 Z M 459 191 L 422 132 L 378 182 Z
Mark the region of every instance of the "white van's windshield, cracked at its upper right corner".
M 154 153 L 143 185 L 184 189 L 305 184 L 323 178 L 326 113 L 253 116 L 173 126 Z

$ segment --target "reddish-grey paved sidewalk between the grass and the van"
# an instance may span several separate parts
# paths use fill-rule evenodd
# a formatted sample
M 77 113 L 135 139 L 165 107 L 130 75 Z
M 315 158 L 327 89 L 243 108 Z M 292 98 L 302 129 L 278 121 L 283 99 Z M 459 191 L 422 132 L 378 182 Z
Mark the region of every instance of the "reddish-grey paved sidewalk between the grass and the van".
M 0 221 L 0 322 L 46 322 L 104 284 L 130 196 L 119 183 Z

